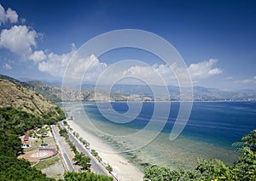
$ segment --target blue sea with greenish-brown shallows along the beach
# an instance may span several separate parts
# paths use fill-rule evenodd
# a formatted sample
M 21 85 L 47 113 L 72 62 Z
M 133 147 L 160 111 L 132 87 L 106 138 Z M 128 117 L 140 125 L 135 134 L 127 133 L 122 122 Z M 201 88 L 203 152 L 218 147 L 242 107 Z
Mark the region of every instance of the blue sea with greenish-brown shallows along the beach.
M 142 171 L 148 165 L 192 169 L 199 157 L 231 164 L 238 156 L 232 144 L 256 128 L 256 102 L 195 102 L 183 132 L 170 140 L 180 104 L 172 102 L 170 114 L 157 115 L 152 127 L 147 125 L 153 122 L 156 104 L 143 103 L 137 111 L 138 104 L 130 104 L 136 108 L 131 112 L 125 102 L 111 103 L 113 110 L 108 103 L 68 103 L 64 107 L 73 122 Z M 166 104 L 157 106 L 165 110 Z

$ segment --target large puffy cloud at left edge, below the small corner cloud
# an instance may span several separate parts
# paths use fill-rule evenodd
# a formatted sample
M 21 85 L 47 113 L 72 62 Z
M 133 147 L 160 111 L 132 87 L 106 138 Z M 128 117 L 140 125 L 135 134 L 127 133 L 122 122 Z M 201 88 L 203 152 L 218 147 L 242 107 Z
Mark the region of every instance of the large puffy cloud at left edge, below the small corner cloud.
M 37 46 L 38 33 L 26 25 L 15 25 L 11 29 L 4 29 L 0 34 L 0 47 L 7 48 L 23 58 L 32 54 L 32 47 Z

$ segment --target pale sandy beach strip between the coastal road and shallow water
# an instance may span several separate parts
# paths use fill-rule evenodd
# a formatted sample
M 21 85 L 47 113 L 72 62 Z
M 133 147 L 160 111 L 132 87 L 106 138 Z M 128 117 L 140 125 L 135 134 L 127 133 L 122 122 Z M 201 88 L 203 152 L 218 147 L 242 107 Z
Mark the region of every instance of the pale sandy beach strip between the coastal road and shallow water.
M 90 133 L 86 133 L 75 122 L 69 121 L 68 124 L 73 128 L 73 131 L 79 133 L 80 137 L 90 143 L 90 148 L 98 152 L 102 162 L 113 167 L 113 175 L 118 180 L 143 180 L 143 173 L 129 161 L 125 160 L 123 156 L 113 153 L 113 150 L 107 144 L 102 143 L 101 140 L 96 139 Z

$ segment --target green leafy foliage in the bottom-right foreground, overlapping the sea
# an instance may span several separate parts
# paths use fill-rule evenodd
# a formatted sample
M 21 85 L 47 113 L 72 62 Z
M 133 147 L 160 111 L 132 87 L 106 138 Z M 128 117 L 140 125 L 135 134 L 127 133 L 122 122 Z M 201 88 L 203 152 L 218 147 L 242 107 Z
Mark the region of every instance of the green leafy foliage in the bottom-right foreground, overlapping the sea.
M 173 170 L 150 166 L 145 180 L 256 180 L 256 129 L 234 144 L 240 156 L 232 166 L 223 161 L 199 159 L 194 171 Z

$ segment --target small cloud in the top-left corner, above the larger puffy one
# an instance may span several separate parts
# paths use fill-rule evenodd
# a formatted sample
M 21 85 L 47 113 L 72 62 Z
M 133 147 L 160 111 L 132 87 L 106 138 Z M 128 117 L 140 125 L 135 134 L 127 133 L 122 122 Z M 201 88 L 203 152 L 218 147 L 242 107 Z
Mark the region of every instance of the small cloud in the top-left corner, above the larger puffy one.
M 8 8 L 7 11 L 4 10 L 3 6 L 0 4 L 0 25 L 6 23 L 8 20 L 11 23 L 18 22 L 18 14 L 15 10 Z

